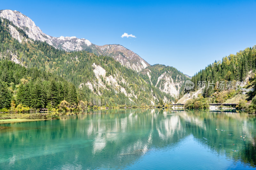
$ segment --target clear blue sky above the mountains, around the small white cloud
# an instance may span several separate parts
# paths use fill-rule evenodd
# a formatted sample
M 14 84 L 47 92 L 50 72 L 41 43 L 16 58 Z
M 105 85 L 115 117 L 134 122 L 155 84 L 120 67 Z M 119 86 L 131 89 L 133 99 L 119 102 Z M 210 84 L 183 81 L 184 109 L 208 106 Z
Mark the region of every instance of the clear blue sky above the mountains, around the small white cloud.
M 189 76 L 256 45 L 256 0 L 3 1 L 1 9 L 22 12 L 48 35 L 121 44 Z

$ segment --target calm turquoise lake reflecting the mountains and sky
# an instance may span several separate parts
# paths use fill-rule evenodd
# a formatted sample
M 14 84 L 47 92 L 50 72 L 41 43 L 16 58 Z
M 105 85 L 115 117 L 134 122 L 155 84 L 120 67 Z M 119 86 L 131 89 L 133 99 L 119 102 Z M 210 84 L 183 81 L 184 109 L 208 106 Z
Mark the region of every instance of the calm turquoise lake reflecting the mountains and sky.
M 9 127 L 0 130 L 0 169 L 256 165 L 256 118 L 245 113 L 119 109 L 0 126 Z

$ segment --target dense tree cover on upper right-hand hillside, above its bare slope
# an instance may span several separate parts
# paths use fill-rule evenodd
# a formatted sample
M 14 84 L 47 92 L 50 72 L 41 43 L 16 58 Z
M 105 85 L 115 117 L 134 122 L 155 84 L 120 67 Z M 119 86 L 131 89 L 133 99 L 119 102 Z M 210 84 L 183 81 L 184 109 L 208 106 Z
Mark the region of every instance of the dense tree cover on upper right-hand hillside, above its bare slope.
M 227 85 L 231 81 L 242 82 L 246 81 L 247 76 L 255 72 L 256 69 L 256 46 L 252 48 L 246 48 L 236 53 L 236 55 L 230 54 L 223 57 L 222 61 L 215 61 L 214 63 L 200 70 L 195 76 L 191 78 L 191 81 L 195 83 L 194 90 L 198 88 L 198 82 L 208 81 L 217 83 L 218 81 L 224 81 L 223 84 Z M 252 77 L 252 76 L 250 76 Z M 247 80 L 248 81 L 248 80 Z M 232 83 L 236 85 L 236 83 Z M 245 84 L 243 84 L 245 85 Z M 214 86 L 217 87 L 217 84 Z M 227 86 L 224 87 L 224 90 Z M 221 89 L 208 88 L 204 90 L 204 96 L 209 97 L 215 91 L 221 91 Z

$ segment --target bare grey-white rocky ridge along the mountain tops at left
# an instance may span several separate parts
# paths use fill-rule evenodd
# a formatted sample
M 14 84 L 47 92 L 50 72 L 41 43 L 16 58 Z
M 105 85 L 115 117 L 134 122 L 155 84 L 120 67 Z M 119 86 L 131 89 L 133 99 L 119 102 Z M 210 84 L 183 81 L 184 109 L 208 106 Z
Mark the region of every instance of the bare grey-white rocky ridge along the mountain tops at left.
M 64 36 L 52 37 L 47 35 L 43 33 L 38 26 L 36 26 L 34 21 L 19 11 L 1 10 L 0 17 L 12 21 L 15 26 L 23 29 L 28 34 L 29 38 L 38 41 L 45 41 L 55 48 L 63 49 L 68 52 L 86 50 L 95 53 L 96 55 L 108 55 L 127 68 L 136 71 L 143 70 L 147 66 L 150 66 L 150 64 L 143 60 L 139 55 L 121 45 L 114 44 L 97 46 L 86 39 Z M 14 35 L 14 32 L 12 32 L 12 34 L 12 36 L 16 37 L 16 39 L 19 36 Z

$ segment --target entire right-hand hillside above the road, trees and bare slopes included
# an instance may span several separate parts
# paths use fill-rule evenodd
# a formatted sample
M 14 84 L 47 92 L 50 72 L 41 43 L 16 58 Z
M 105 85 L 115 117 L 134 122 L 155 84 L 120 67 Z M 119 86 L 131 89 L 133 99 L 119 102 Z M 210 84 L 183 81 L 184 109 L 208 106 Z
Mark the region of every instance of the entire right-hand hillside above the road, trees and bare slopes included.
M 187 101 L 185 107 L 197 108 L 209 106 L 209 103 L 239 103 L 237 108 L 248 109 L 249 113 L 256 112 L 256 46 L 245 48 L 236 53 L 223 57 L 222 61 L 205 67 L 196 73 L 191 81 L 195 87 L 179 100 Z

